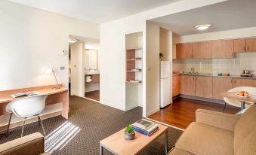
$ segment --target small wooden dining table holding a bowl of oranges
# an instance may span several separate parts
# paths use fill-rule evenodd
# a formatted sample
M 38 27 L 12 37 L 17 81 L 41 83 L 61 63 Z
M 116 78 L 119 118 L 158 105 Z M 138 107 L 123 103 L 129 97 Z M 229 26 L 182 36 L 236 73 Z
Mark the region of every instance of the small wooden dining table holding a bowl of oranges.
M 224 92 L 221 93 L 221 96 L 224 96 L 229 99 L 236 99 L 237 101 L 241 102 L 241 110 L 245 108 L 245 104 L 251 105 L 249 102 L 256 102 L 256 96 L 251 94 L 249 94 L 249 97 L 239 97 L 236 96 L 236 93 Z

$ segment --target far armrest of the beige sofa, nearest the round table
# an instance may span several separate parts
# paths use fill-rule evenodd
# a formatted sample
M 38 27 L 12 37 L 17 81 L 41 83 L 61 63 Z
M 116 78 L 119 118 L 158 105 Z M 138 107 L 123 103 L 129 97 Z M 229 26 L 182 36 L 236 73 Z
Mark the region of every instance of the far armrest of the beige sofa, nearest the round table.
M 226 114 L 218 111 L 209 111 L 205 109 L 196 110 L 196 122 L 205 123 L 222 129 L 234 131 L 239 116 L 235 114 Z

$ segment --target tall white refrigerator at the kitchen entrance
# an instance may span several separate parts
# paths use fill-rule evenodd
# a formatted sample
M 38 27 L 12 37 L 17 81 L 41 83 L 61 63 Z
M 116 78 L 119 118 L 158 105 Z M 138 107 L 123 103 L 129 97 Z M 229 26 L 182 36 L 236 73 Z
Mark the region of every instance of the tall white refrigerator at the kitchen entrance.
M 160 108 L 171 103 L 171 62 L 160 62 Z

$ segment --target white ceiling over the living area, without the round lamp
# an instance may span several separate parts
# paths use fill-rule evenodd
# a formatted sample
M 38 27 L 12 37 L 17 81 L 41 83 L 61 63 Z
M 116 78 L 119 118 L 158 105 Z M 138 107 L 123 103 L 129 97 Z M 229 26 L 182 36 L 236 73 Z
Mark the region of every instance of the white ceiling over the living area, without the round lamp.
M 94 23 L 104 23 L 180 0 L 10 0 Z

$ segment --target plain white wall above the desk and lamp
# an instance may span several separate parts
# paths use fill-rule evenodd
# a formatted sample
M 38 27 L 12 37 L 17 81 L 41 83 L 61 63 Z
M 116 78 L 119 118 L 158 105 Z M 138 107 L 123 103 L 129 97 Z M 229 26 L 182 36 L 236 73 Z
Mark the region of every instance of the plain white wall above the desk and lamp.
M 0 90 L 55 84 L 45 76 L 54 68 L 60 83 L 68 86 L 69 35 L 99 38 L 98 24 L 0 1 Z M 65 70 L 60 70 L 64 66 Z

